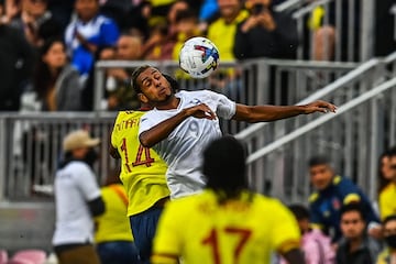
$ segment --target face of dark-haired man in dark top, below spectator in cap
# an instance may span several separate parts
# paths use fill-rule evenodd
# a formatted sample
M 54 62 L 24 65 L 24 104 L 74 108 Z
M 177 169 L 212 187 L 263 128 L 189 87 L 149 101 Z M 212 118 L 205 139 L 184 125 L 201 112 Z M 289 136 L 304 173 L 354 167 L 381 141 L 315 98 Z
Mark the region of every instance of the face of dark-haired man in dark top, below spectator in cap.
M 363 235 L 365 222 L 358 211 L 348 211 L 341 217 L 340 228 L 345 239 L 358 239 Z

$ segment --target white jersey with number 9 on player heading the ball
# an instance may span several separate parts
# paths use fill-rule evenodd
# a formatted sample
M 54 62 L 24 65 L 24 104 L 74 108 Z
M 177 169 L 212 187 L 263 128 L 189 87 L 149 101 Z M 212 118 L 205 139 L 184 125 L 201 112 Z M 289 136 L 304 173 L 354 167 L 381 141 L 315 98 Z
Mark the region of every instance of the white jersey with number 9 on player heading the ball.
M 140 131 L 142 132 L 176 116 L 183 109 L 200 103 L 206 103 L 217 114 L 216 120 L 187 118 L 153 148 L 167 163 L 167 185 L 170 189 L 170 198 L 179 198 L 202 190 L 206 179 L 201 172 L 202 151 L 213 139 L 221 136 L 219 117 L 231 119 L 235 114 L 235 102 L 226 96 L 208 91 L 180 91 L 176 94 L 180 98 L 177 109 L 153 109 L 141 119 Z

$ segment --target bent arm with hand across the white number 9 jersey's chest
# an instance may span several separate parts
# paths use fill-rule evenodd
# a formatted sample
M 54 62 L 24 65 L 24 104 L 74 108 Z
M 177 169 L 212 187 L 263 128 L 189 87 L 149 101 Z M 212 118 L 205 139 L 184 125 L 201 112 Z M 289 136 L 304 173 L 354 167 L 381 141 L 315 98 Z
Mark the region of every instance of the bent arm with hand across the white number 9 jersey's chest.
M 145 147 L 152 147 L 158 142 L 165 140 L 172 131 L 177 128 L 177 125 L 189 117 L 210 120 L 216 119 L 215 113 L 205 103 L 183 109 L 176 116 L 154 125 L 147 131 L 142 132 L 139 136 L 141 144 Z

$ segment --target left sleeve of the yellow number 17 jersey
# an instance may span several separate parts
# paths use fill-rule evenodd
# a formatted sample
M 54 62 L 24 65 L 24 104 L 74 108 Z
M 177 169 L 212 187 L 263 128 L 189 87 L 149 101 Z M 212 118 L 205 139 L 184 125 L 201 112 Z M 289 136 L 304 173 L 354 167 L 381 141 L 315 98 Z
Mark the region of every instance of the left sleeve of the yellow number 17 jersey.
M 170 201 L 165 206 L 153 241 L 153 254 L 151 257 L 153 264 L 178 263 L 183 244 L 180 233 L 183 223 L 178 222 L 180 211 L 183 209 L 177 209 L 177 201 Z

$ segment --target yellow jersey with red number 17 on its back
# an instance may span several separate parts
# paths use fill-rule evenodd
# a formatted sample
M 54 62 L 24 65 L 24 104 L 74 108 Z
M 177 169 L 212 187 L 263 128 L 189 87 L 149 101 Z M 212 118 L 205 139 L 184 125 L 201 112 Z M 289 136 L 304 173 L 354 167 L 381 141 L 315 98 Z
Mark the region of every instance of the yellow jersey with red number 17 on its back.
M 152 263 L 270 263 L 274 251 L 299 248 L 300 231 L 278 200 L 244 193 L 218 204 L 211 190 L 168 202 L 160 218 Z

